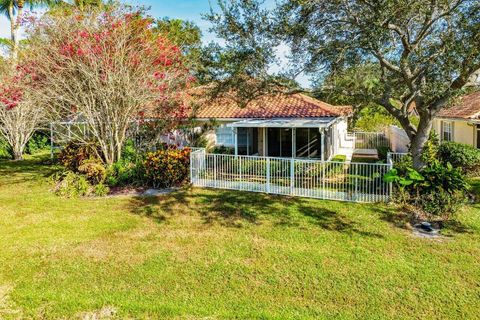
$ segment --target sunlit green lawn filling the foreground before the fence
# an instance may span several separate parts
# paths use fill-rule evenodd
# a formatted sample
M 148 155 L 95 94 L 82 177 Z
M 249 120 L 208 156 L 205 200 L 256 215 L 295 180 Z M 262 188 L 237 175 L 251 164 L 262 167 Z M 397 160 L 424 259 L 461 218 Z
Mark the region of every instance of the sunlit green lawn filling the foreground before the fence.
M 0 162 L 0 318 L 457 318 L 480 309 L 480 206 L 441 241 L 387 205 L 184 189 L 58 198 Z

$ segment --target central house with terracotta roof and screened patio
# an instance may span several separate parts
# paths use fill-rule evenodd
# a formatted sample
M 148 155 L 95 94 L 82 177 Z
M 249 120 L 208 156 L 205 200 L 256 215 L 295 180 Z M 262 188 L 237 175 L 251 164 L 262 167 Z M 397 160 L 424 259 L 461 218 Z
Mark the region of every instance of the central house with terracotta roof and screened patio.
M 215 120 L 209 141 L 236 155 L 331 159 L 352 148 L 347 137 L 349 106 L 333 106 L 304 94 L 269 95 L 240 108 L 228 98 L 203 102 L 200 121 Z

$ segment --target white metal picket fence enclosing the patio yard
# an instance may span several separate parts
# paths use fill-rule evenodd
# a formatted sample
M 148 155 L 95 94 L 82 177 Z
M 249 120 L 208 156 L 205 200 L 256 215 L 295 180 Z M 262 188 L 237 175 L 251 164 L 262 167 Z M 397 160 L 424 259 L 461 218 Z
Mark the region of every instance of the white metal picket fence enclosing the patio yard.
M 310 197 L 388 201 L 391 185 L 383 181 L 390 164 L 191 153 L 194 186 Z

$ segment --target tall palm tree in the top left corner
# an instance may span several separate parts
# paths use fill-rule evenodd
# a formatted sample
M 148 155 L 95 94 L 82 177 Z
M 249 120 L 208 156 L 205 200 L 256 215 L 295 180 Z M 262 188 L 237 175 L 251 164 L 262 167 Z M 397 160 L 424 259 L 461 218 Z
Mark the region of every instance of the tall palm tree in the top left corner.
M 0 13 L 7 16 L 10 21 L 10 40 L 7 42 L 10 47 L 12 58 L 16 59 L 20 39 L 18 31 L 23 18 L 23 10 L 26 5 L 31 8 L 51 5 L 60 0 L 0 0 Z M 3 41 L 5 43 L 5 41 Z

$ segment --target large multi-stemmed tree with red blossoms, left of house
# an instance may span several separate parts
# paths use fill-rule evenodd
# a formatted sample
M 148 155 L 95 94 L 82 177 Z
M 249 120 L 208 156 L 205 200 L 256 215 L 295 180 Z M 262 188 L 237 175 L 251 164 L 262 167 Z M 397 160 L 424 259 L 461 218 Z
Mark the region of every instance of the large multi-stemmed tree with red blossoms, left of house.
M 32 95 L 52 120 L 85 122 L 88 135 L 74 138 L 96 141 L 106 164 L 121 158 L 132 125 L 154 118 L 167 130 L 185 113 L 182 92 L 193 79 L 180 48 L 152 22 L 112 6 L 46 15 L 29 28 Z

